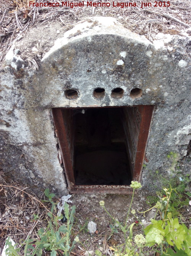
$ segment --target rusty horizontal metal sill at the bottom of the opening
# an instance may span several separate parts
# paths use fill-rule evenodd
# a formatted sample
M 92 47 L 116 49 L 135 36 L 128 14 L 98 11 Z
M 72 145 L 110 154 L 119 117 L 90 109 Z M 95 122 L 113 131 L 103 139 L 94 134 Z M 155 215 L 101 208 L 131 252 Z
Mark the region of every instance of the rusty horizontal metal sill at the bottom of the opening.
M 131 195 L 133 193 L 133 189 L 127 185 L 75 185 L 70 187 L 70 193 L 108 193 Z

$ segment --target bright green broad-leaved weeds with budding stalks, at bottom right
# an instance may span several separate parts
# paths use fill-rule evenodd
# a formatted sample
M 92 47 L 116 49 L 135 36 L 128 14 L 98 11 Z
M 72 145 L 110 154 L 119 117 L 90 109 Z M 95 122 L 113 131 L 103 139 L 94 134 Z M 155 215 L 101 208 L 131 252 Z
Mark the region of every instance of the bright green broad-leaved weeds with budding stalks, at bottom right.
M 133 187 L 134 183 L 132 182 L 131 187 Z M 184 224 L 180 224 L 178 218 L 173 218 L 172 213 L 172 197 L 178 195 L 176 189 L 172 188 L 169 184 L 168 188 L 163 188 L 163 197 L 160 201 L 157 201 L 154 206 L 152 206 L 149 210 L 140 212 L 146 213 L 150 211 L 152 208 L 156 208 L 155 218 L 157 213 L 160 215 L 160 220 L 151 219 L 150 225 L 146 228 L 142 225 L 142 233 L 134 236 L 133 227 L 136 223 L 132 223 L 127 226 L 128 216 L 131 210 L 134 191 L 136 188 L 140 188 L 141 184 L 136 183 L 139 187 L 133 187 L 133 195 L 131 198 L 131 203 L 129 206 L 129 210 L 126 216 L 125 223 L 120 223 L 116 221 L 116 219 L 108 213 L 107 209 L 104 206 L 104 201 L 100 201 L 100 206 L 104 208 L 106 213 L 113 220 L 113 230 L 112 233 L 117 233 L 118 230 L 121 230 L 124 234 L 125 243 L 117 246 L 115 248 L 111 248 L 116 256 L 142 256 L 144 254 L 144 248 L 146 246 L 153 247 L 155 246 L 155 251 L 162 254 L 163 256 L 174 256 L 174 255 L 182 255 L 182 256 L 191 256 L 191 229 L 188 229 Z M 177 187 L 180 192 L 183 192 L 185 189 L 183 184 Z M 180 197 L 180 195 L 178 195 Z M 156 201 L 155 197 L 150 198 L 154 203 Z M 136 211 L 132 210 L 131 213 L 135 216 Z M 141 223 L 140 223 L 141 224 Z M 176 254 L 170 248 L 174 247 Z M 101 254 L 97 253 L 98 256 Z

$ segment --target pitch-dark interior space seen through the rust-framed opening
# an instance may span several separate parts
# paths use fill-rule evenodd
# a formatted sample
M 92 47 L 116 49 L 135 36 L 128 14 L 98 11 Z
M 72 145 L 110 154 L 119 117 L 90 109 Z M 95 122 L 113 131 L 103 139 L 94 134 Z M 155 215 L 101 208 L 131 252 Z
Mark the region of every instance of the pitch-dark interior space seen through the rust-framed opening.
M 131 183 L 122 109 L 73 109 L 76 185 Z

